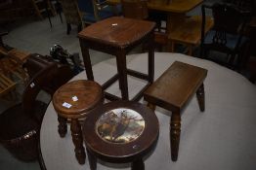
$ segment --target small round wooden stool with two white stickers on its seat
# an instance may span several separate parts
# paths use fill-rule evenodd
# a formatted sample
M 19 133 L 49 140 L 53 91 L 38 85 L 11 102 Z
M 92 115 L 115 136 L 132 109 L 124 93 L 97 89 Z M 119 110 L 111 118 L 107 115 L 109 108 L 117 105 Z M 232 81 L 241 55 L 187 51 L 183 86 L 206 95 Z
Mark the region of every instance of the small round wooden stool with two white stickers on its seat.
M 85 151 L 81 125 L 78 119 L 84 119 L 95 108 L 103 104 L 101 85 L 93 81 L 79 80 L 61 86 L 54 94 L 53 105 L 58 113 L 58 131 L 61 137 L 66 134 L 66 121 L 71 119 L 70 130 L 76 159 L 85 163 Z

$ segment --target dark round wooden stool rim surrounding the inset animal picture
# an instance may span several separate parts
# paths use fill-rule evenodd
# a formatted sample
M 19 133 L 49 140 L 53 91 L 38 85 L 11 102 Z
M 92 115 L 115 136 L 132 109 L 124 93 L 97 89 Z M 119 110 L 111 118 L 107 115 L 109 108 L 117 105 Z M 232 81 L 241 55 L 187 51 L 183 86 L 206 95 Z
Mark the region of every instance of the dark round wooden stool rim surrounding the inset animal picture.
M 141 136 L 126 144 L 110 143 L 103 140 L 96 133 L 96 122 L 110 110 L 127 108 L 138 112 L 145 119 L 145 129 Z M 96 157 L 108 162 L 122 163 L 132 162 L 149 153 L 157 141 L 159 123 L 155 114 L 145 105 L 136 102 L 115 101 L 104 105 L 103 109 L 90 114 L 83 124 L 83 134 L 87 149 Z

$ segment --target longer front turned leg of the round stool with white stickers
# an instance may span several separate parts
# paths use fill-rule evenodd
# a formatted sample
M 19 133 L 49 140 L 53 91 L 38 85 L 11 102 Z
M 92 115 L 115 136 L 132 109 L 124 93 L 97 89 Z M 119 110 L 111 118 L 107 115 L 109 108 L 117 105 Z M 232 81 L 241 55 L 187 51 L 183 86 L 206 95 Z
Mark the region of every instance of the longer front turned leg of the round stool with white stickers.
M 71 128 L 71 135 L 72 135 L 72 141 L 74 144 L 74 153 L 75 153 L 76 159 L 80 164 L 84 164 L 86 155 L 83 147 L 81 125 L 78 119 L 71 119 L 70 128 Z

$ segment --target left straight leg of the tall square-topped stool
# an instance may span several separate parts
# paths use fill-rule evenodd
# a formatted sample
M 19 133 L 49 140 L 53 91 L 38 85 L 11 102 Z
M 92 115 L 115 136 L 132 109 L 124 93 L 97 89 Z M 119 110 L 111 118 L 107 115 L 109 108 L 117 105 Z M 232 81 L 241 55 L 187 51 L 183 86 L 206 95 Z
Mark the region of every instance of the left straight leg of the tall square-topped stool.
M 90 81 L 94 81 L 92 63 L 90 58 L 90 53 L 88 48 L 84 45 L 83 41 L 80 40 L 81 51 L 83 55 L 84 67 L 87 75 L 87 79 Z

